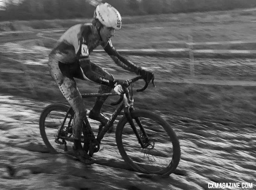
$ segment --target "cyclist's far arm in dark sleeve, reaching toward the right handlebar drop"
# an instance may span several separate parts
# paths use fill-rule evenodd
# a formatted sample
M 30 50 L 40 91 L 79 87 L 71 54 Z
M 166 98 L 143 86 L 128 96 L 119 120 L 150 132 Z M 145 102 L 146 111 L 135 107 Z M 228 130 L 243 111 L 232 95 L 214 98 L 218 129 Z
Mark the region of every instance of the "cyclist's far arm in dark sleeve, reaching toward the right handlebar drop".
M 109 40 L 107 44 L 102 44 L 102 47 L 118 66 L 136 74 L 140 73 L 141 67 L 121 56 L 112 45 L 111 40 Z

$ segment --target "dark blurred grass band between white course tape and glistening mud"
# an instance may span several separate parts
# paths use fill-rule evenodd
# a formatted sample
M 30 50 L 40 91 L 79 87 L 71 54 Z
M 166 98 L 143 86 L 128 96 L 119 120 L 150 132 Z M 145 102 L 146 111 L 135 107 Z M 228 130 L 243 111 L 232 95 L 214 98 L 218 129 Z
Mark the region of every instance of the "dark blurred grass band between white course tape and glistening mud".
M 32 45 L 31 45 L 32 46 Z M 26 47 L 26 46 L 25 46 Z M 29 48 L 29 47 L 28 47 Z M 31 47 L 30 47 L 31 48 Z M 23 53 L 24 58 L 37 60 L 42 53 Z M 46 56 L 46 55 L 45 55 Z M 18 54 L 2 52 L 0 56 L 2 69 L 22 70 L 22 63 Z M 8 59 L 11 57 L 12 59 Z M 135 105 L 138 108 L 161 111 L 164 114 L 189 117 L 203 120 L 226 120 L 233 122 L 256 123 L 255 87 L 190 85 L 170 83 L 172 78 L 189 78 L 189 60 L 175 58 L 130 56 L 132 61 L 153 70 L 156 75 L 157 88 L 152 86 L 144 92 L 134 92 Z M 93 56 L 91 60 L 103 68 L 110 69 L 116 78 L 130 78 L 132 75 L 117 67 L 109 57 Z M 103 61 L 104 60 L 104 61 Z M 195 71 L 199 79 L 222 80 L 255 80 L 255 60 L 247 59 L 196 59 Z M 29 73 L 27 79 L 24 73 L 2 73 L 1 93 L 18 94 L 19 96 L 35 98 L 42 101 L 66 102 L 57 85 L 48 74 L 47 67 L 26 65 L 26 71 L 33 70 L 40 73 Z M 28 81 L 33 85 L 36 96 L 33 97 Z M 77 80 L 81 93 L 97 92 L 98 85 Z M 143 86 L 138 82 L 134 88 Z M 117 97 L 109 97 L 103 111 L 114 111 L 109 103 Z M 95 98 L 86 100 L 86 106 L 91 107 Z M 67 102 L 66 102 L 67 103 Z

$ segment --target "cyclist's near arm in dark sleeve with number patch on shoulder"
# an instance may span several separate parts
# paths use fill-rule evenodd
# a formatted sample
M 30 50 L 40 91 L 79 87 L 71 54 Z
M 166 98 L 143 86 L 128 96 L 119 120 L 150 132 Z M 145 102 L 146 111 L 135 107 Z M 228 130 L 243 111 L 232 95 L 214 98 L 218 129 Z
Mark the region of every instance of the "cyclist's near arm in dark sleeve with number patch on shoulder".
M 107 86 L 113 86 L 114 81 L 109 80 L 99 73 L 97 73 L 93 67 L 91 67 L 91 61 L 89 58 L 89 52 L 88 52 L 88 47 L 86 43 L 83 43 L 83 37 L 80 39 L 80 43 L 76 44 L 76 57 L 80 65 L 80 69 L 82 72 L 82 75 L 85 80 L 89 79 L 90 81 L 107 85 Z

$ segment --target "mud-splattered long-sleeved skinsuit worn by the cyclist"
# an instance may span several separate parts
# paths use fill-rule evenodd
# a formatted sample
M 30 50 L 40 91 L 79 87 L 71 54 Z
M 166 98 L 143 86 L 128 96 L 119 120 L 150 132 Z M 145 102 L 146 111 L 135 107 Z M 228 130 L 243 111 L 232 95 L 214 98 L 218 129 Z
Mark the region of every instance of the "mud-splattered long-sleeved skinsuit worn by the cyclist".
M 62 94 L 75 111 L 73 136 L 80 139 L 83 119 L 86 116 L 86 107 L 76 86 L 74 78 L 89 79 L 101 84 L 99 93 L 110 92 L 114 77 L 104 69 L 92 63 L 89 54 L 101 45 L 105 52 L 120 67 L 139 74 L 140 67 L 123 58 L 113 47 L 111 41 L 102 42 L 95 36 L 95 27 L 92 24 L 78 24 L 69 28 L 59 39 L 58 44 L 49 54 L 48 67 L 50 74 L 58 84 Z M 107 97 L 96 98 L 93 109 L 100 112 L 101 106 Z

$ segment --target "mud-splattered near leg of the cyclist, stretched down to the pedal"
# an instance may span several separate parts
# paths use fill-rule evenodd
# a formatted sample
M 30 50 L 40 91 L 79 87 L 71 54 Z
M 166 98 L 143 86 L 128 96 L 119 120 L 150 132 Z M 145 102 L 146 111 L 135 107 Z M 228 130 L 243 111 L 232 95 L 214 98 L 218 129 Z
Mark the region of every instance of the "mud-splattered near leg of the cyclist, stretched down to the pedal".
M 79 151 L 79 159 L 85 163 L 90 164 L 94 159 L 90 158 L 87 153 L 82 153 L 83 151 L 81 145 L 81 129 L 84 121 L 84 117 L 86 117 L 86 109 L 84 106 L 83 98 L 76 86 L 76 82 L 72 77 L 72 74 L 69 75 L 68 71 L 63 71 L 60 69 L 59 65 L 63 63 L 59 63 L 54 59 L 49 59 L 48 67 L 50 70 L 50 74 L 54 81 L 57 83 L 60 91 L 63 96 L 67 99 L 71 107 L 73 108 L 75 115 L 73 120 L 73 137 L 74 137 L 74 149 L 75 151 Z M 87 159 L 84 160 L 83 158 Z M 89 159 L 89 161 L 88 161 Z

